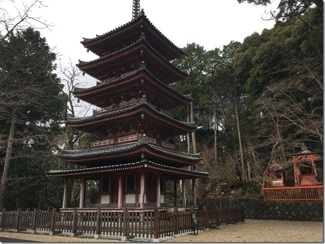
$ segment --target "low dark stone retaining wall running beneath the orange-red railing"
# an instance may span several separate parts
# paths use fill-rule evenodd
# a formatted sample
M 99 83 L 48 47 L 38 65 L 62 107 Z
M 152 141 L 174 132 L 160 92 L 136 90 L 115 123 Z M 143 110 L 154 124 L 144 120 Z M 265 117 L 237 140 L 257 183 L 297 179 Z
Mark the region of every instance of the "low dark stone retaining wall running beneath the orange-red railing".
M 191 205 L 189 200 L 188 204 Z M 259 199 L 197 199 L 198 206 L 243 205 L 246 219 L 276 219 L 292 221 L 323 221 L 322 202 L 264 202 Z

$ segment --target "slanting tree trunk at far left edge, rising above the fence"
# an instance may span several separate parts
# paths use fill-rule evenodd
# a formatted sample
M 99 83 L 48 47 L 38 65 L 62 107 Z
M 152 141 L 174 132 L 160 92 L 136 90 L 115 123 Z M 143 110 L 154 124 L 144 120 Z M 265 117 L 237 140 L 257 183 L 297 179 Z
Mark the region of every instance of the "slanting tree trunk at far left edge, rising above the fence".
M 4 166 L 4 172 L 2 175 L 1 187 L 0 187 L 0 211 L 3 211 L 5 207 L 6 186 L 8 180 L 8 172 L 9 172 L 9 166 L 11 161 L 11 155 L 13 151 L 15 128 L 16 128 L 16 111 L 14 110 L 11 119 L 10 132 L 9 132 L 6 158 L 5 158 L 5 166 Z

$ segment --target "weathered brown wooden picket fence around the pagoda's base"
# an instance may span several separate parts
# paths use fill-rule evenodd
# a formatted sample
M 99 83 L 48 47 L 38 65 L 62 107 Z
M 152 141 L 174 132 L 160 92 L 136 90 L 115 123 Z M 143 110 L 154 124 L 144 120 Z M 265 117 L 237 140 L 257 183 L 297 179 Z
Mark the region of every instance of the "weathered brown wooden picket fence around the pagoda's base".
M 198 229 L 216 228 L 244 221 L 243 207 L 187 210 L 154 209 L 65 209 L 48 211 L 3 211 L 0 230 L 116 236 L 126 240 L 133 237 L 158 239 L 189 233 L 194 230 L 191 214 L 195 214 Z

